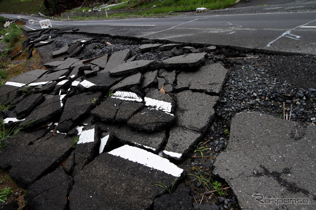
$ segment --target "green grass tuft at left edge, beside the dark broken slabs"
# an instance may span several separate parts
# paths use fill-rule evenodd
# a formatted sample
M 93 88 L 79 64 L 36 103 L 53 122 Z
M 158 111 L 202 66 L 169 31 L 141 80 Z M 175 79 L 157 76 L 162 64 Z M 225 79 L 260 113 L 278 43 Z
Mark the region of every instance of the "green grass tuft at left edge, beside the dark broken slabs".
M 25 126 L 27 126 L 28 124 L 34 121 L 35 120 L 25 121 L 21 124 L 16 123 L 15 125 L 10 126 L 8 123 L 3 123 L 3 120 L 1 120 L 0 121 L 0 149 L 9 143 L 7 139 L 18 134 Z

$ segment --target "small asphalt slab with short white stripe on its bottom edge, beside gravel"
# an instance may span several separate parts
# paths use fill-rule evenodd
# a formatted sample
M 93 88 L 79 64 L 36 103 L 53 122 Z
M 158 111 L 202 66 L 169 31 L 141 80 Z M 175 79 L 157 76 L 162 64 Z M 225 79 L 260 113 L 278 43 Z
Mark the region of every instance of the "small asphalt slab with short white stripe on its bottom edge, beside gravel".
M 181 160 L 192 151 L 193 144 L 202 138 L 201 133 L 181 128 L 170 129 L 169 139 L 163 153 L 170 158 Z

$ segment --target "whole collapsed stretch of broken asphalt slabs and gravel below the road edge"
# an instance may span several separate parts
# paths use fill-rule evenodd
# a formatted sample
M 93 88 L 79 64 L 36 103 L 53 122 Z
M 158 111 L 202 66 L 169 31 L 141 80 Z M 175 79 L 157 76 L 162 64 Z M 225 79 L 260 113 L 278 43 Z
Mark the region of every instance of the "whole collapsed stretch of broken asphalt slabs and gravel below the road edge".
M 247 55 L 52 30 L 32 39 L 45 41 L 48 35 L 53 42 L 39 48 L 52 51 L 46 55 L 48 70 L 14 77 L 0 91 L 1 103 L 12 105 L 4 113 L 6 122 L 36 119 L 27 126 L 29 133 L 10 139 L 15 144 L 0 153 L 0 168 L 9 169 L 19 185 L 29 188 L 27 197 L 35 209 L 44 208 L 41 200 L 54 203 L 57 191 L 64 197 L 58 208 L 102 209 L 106 202 L 109 208 L 148 209 L 185 202 L 188 209 L 205 204 L 236 209 L 237 196 L 244 194 L 237 195 L 233 182 L 219 179 L 224 184 L 221 195 L 205 192 L 194 176 L 202 173 L 214 183 L 213 164 L 231 141 L 233 116 L 253 110 L 282 114 L 285 107 L 292 120 L 316 122 L 314 88 L 277 81 L 269 65 L 261 68 Z M 42 157 L 47 160 L 33 172 L 32 163 Z M 27 175 L 22 177 L 22 171 Z M 171 195 L 155 185 L 176 178 Z M 51 183 L 43 186 L 47 180 Z M 47 191 L 39 192 L 40 187 Z

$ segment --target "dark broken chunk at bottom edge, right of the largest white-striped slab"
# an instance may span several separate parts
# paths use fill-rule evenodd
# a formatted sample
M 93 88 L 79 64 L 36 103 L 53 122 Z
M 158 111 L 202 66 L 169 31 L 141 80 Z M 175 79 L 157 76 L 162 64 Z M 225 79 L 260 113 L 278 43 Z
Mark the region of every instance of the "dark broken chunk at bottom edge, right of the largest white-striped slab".
M 190 187 L 181 183 L 172 194 L 165 194 L 156 198 L 154 210 L 192 210 L 192 197 L 190 193 Z

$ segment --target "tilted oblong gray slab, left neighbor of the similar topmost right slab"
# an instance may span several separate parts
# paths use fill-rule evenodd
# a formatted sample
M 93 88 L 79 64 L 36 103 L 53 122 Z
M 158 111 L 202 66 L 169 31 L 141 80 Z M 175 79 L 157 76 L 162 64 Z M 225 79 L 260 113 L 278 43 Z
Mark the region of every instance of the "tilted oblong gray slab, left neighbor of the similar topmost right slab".
M 128 63 L 121 64 L 113 69 L 110 70 L 111 76 L 126 76 L 137 71 L 142 72 L 150 67 L 150 65 L 154 61 L 151 60 L 144 60 L 144 61 L 131 61 Z

